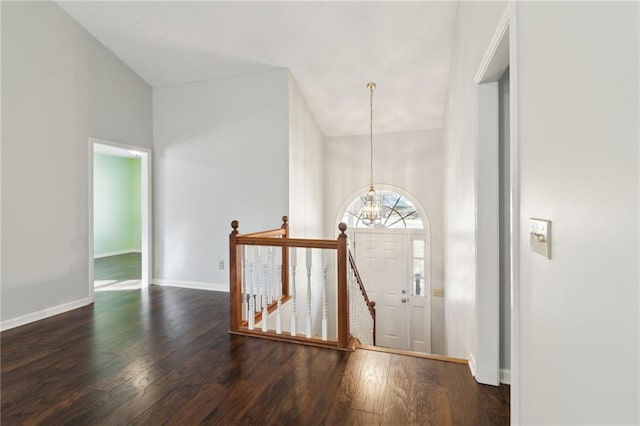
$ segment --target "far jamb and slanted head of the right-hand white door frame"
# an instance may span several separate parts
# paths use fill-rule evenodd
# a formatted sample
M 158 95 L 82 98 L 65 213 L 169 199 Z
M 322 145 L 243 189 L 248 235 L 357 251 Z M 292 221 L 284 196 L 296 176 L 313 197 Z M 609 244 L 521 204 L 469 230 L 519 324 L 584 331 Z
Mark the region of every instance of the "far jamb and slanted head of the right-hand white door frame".
M 477 364 L 474 360 L 473 370 L 477 373 L 474 374 L 476 381 L 494 386 L 500 383 L 497 81 L 511 61 L 511 15 L 511 4 L 508 3 L 474 77 L 478 103 L 475 111 L 472 111 L 475 136 L 477 321 Z M 510 111 L 514 101 L 510 101 Z M 513 211 L 511 214 L 513 217 Z M 512 243 L 516 242 L 512 240 Z

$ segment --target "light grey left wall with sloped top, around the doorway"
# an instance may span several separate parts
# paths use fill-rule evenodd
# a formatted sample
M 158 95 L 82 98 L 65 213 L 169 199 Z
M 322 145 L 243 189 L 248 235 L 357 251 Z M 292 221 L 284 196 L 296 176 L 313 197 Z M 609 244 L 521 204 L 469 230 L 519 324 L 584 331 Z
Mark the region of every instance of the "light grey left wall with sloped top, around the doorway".
M 152 125 L 150 87 L 56 4 L 0 7 L 7 328 L 89 302 L 88 138 L 150 147 Z

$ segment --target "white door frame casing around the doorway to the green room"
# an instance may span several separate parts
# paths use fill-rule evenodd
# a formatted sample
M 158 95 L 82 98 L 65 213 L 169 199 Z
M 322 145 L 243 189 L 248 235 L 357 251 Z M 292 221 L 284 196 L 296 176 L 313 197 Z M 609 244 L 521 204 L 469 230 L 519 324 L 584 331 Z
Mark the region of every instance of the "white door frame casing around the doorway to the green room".
M 94 300 L 94 277 L 93 277 L 93 169 L 94 169 L 94 153 L 96 145 L 107 145 L 123 151 L 135 151 L 140 153 L 140 180 L 141 180 L 141 260 L 142 260 L 142 288 L 147 288 L 151 283 L 151 271 L 153 271 L 152 256 L 152 170 L 151 170 L 151 149 L 143 148 L 135 145 L 127 145 L 119 142 L 113 142 L 105 139 L 89 137 L 89 302 Z

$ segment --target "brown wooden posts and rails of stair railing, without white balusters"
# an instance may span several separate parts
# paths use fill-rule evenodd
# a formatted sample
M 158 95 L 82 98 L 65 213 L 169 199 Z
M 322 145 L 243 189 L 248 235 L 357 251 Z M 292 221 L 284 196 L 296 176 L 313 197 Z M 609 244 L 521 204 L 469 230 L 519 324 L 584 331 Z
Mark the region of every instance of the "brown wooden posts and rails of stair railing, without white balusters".
M 247 322 L 242 319 L 243 316 L 243 300 L 242 300 L 242 276 L 243 276 L 243 246 L 264 246 L 264 247 L 281 247 L 282 248 L 282 273 L 280 274 L 282 292 L 281 297 L 278 299 L 279 303 L 284 303 L 289 297 L 289 248 L 307 248 L 307 249 L 326 249 L 336 250 L 337 256 L 337 342 L 333 344 L 322 345 L 333 347 L 335 345 L 338 349 L 354 350 L 355 338 L 351 336 L 349 331 L 349 300 L 347 290 L 347 225 L 341 223 L 338 226 L 340 234 L 335 240 L 322 240 L 322 239 L 301 239 L 301 238 L 289 238 L 289 225 L 288 217 L 282 217 L 282 226 L 277 229 L 271 229 L 267 231 L 254 232 L 250 234 L 240 234 L 238 231 L 239 222 L 234 220 L 231 222 L 231 234 L 229 235 L 229 311 L 230 311 L 230 332 L 234 334 L 246 334 L 246 335 L 262 335 L 268 338 L 274 338 L 274 333 L 259 332 L 256 330 L 249 330 L 246 327 Z M 263 305 L 264 306 L 264 305 Z M 270 313 L 274 309 L 271 304 L 265 307 L 264 312 Z M 253 322 L 253 316 L 250 316 Z M 263 320 L 262 317 L 256 315 L 255 320 Z M 324 327 L 324 326 L 323 326 Z M 324 333 L 324 331 L 323 331 Z M 278 340 L 287 340 L 300 342 L 300 335 L 286 335 L 277 334 Z M 317 344 L 317 338 L 307 338 L 312 344 Z M 303 339 L 304 340 L 304 339 Z

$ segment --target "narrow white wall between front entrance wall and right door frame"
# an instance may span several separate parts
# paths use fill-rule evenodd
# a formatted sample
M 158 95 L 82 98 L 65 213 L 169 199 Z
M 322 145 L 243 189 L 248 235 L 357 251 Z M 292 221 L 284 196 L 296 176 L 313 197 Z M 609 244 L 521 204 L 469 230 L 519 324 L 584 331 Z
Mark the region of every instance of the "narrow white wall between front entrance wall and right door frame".
M 477 348 L 474 76 L 505 2 L 459 2 L 444 123 L 445 350 L 469 358 Z

